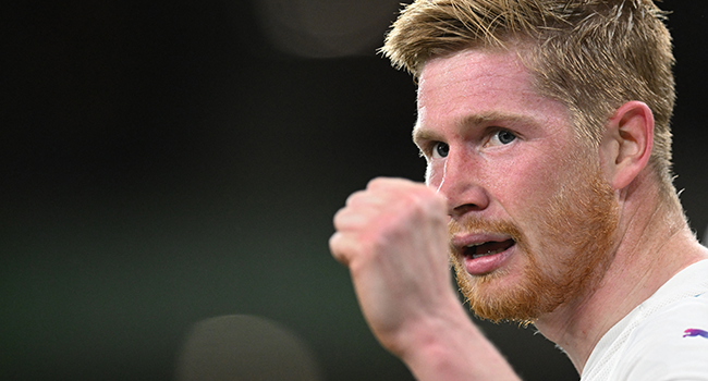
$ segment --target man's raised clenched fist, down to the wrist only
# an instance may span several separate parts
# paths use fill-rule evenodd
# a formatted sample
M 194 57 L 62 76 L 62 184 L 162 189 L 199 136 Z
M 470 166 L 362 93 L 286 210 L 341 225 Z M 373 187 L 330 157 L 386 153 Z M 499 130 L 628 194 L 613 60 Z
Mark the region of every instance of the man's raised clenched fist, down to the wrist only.
M 371 331 L 399 356 L 414 327 L 450 306 L 462 311 L 451 286 L 445 210 L 444 198 L 424 184 L 377 179 L 334 217 L 332 255 L 349 266 Z

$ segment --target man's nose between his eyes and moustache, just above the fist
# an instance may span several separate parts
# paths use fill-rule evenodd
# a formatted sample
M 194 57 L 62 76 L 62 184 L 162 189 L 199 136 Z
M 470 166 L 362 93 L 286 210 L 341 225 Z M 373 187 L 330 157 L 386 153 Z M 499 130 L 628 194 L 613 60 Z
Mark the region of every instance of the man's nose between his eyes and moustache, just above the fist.
M 450 152 L 442 169 L 438 194 L 448 199 L 448 214 L 452 218 L 478 212 L 489 206 L 489 195 L 480 185 L 480 168 L 475 159 Z

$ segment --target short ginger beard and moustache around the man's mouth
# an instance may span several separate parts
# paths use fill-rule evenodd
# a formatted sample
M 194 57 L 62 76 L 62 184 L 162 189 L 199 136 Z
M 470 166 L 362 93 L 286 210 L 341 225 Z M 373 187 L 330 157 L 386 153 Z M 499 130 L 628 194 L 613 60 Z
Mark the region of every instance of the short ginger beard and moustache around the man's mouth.
M 578 171 L 574 181 L 561 185 L 547 205 L 530 208 L 533 221 L 528 222 L 542 234 L 537 248 L 530 248 L 521 229 L 511 222 L 450 221 L 450 236 L 459 232 L 509 234 L 515 241 L 516 255 L 526 257 L 518 281 L 500 286 L 508 270 L 473 276 L 464 267 L 464 258 L 451 251 L 460 291 L 478 317 L 530 323 L 591 291 L 605 275 L 613 258 L 610 250 L 619 206 L 597 164 L 591 169 L 574 167 Z

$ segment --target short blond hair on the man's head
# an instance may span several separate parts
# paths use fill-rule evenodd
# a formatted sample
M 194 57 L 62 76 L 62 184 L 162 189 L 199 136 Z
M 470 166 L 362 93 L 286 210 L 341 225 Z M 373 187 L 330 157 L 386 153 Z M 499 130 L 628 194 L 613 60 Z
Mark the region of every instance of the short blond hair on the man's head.
M 563 102 L 594 144 L 620 106 L 644 101 L 656 121 L 649 162 L 673 190 L 674 59 L 664 19 L 651 0 L 417 0 L 381 51 L 417 78 L 431 58 L 521 46 L 538 90 Z

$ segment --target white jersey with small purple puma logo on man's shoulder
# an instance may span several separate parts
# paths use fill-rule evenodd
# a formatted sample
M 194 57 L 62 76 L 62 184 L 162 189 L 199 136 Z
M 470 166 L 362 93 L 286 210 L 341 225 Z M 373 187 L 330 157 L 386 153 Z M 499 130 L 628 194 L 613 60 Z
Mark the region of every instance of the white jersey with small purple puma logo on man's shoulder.
M 708 381 L 708 260 L 694 263 L 612 327 L 582 381 Z

